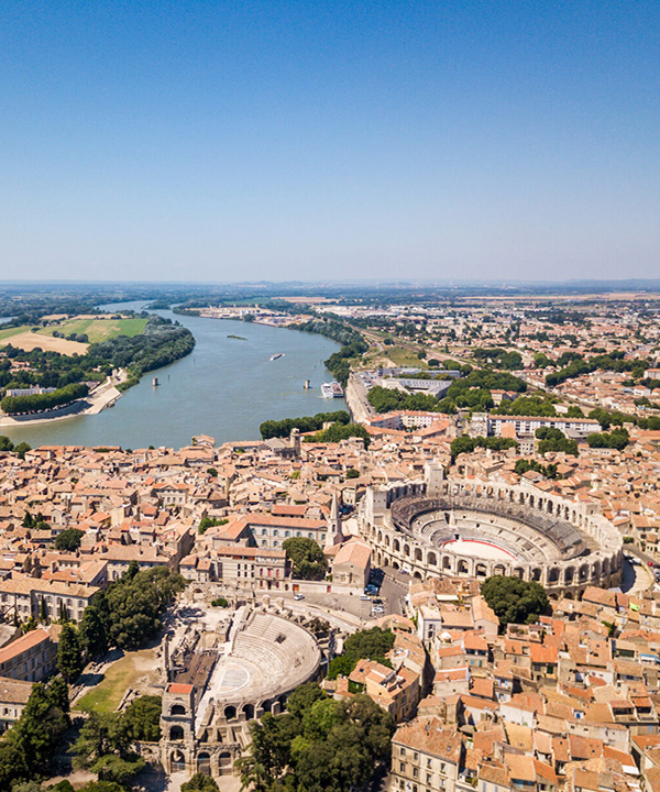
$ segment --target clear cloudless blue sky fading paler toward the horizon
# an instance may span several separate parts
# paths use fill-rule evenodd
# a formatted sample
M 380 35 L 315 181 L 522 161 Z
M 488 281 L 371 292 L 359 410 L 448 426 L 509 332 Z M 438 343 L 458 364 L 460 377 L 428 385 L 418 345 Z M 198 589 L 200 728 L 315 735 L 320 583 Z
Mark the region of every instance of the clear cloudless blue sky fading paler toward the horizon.
M 658 0 L 4 0 L 0 278 L 660 277 Z

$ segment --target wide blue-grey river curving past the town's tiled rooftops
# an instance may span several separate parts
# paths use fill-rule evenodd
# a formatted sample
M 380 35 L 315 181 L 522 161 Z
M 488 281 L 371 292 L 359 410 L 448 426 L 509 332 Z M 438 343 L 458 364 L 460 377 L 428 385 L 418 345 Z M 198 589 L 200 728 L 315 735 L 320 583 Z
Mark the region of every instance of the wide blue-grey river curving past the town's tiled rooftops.
M 146 302 L 100 306 L 107 310 Z M 332 378 L 322 361 L 338 349 L 312 333 L 223 319 L 155 311 L 189 328 L 197 344 L 191 354 L 148 372 L 111 408 L 33 427 L 0 428 L 14 442 L 48 444 L 180 448 L 194 435 L 226 440 L 256 440 L 262 421 L 345 409 L 343 399 L 324 399 L 320 385 Z M 242 336 L 245 341 L 228 336 Z M 271 361 L 271 355 L 284 356 Z M 152 385 L 158 377 L 160 386 Z M 305 391 L 306 380 L 312 389 Z

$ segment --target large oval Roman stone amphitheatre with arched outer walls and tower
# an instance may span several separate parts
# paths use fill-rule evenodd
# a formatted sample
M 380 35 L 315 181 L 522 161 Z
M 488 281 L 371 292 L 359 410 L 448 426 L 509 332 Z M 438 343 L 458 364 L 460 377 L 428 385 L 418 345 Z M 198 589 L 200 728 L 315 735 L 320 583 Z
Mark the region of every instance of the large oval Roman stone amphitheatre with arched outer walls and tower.
M 569 597 L 620 582 L 623 539 L 597 504 L 432 464 L 422 483 L 367 490 L 359 522 L 376 565 L 416 578 L 513 575 Z

